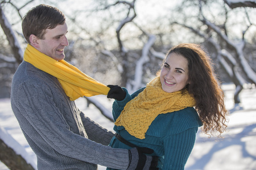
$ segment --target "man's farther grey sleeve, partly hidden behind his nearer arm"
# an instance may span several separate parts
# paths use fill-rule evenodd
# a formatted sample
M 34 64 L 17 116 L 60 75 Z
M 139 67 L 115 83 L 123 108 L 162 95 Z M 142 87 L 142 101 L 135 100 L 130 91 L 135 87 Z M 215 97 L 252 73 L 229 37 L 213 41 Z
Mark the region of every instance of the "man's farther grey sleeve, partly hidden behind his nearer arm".
M 86 117 L 84 113 L 80 112 L 80 116 L 88 138 L 94 142 L 108 146 L 111 139 L 114 137 L 114 133 L 103 128 L 93 120 L 90 120 L 90 118 Z

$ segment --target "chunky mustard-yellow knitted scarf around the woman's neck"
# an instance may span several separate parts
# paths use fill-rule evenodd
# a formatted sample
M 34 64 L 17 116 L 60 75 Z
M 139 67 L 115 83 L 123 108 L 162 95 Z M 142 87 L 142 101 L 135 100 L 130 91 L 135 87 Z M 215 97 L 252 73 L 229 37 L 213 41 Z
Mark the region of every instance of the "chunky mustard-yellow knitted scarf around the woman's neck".
M 156 77 L 125 105 L 115 125 L 123 126 L 129 134 L 144 139 L 148 127 L 158 114 L 194 107 L 195 104 L 195 99 L 187 90 L 172 93 L 163 91 L 160 78 Z

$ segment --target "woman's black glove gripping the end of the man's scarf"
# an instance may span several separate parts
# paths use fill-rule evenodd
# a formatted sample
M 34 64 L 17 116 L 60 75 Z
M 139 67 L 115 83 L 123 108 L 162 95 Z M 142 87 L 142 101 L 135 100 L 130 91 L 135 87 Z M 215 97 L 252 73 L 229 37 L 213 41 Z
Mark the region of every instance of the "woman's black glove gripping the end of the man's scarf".
M 121 101 L 125 99 L 126 92 L 122 89 L 122 87 L 118 85 L 108 85 L 110 88 L 109 93 L 108 93 L 108 98 L 115 99 L 118 101 Z

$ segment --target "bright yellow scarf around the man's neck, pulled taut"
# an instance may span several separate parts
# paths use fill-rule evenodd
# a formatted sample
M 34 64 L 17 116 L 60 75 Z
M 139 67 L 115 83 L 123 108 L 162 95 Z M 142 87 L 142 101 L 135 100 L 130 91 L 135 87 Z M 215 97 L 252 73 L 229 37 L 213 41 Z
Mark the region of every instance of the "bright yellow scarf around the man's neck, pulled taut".
M 77 67 L 64 61 L 64 59 L 56 61 L 39 52 L 30 44 L 27 45 L 24 52 L 24 61 L 55 76 L 70 100 L 76 100 L 83 96 L 107 95 L 110 90 L 105 84 L 97 82 L 90 76 L 82 73 Z

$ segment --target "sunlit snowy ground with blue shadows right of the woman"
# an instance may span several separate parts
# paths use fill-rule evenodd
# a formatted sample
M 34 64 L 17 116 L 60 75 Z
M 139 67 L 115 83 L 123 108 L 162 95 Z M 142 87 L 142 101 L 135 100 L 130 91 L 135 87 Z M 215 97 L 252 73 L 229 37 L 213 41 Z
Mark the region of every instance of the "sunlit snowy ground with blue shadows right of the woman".
M 243 90 L 241 104 L 234 105 L 234 86 L 225 86 L 223 89 L 230 111 L 228 130 L 223 134 L 223 139 L 209 139 L 198 133 L 186 170 L 256 169 L 256 90 Z

